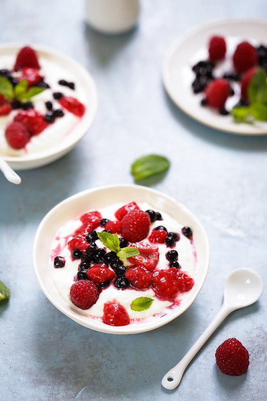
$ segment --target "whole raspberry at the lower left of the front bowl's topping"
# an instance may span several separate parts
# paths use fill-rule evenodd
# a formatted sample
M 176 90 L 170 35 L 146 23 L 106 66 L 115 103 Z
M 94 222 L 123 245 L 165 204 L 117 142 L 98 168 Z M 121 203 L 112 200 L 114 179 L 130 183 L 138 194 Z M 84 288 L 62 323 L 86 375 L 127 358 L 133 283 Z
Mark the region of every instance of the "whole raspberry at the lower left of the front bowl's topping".
M 70 298 L 74 305 L 81 309 L 89 309 L 96 303 L 99 290 L 90 280 L 79 280 L 71 286 Z

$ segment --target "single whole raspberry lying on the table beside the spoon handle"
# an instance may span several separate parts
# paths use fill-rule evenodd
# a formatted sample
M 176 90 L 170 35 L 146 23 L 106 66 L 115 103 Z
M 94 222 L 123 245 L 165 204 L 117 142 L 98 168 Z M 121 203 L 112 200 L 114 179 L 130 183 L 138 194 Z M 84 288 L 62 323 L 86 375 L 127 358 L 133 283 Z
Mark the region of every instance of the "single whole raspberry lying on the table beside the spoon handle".
M 228 338 L 223 341 L 216 349 L 215 359 L 222 373 L 231 376 L 239 376 L 244 373 L 249 365 L 248 352 L 236 338 Z

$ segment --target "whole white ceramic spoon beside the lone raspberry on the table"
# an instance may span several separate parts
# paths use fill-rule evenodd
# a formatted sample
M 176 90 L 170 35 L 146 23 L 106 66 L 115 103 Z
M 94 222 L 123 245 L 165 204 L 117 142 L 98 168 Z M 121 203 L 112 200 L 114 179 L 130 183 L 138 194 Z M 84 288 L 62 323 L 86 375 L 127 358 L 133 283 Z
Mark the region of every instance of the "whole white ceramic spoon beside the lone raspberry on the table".
M 234 270 L 226 280 L 224 287 L 224 301 L 217 316 L 215 316 L 210 325 L 189 349 L 181 361 L 165 374 L 161 381 L 163 387 L 168 390 L 173 390 L 177 387 L 188 363 L 226 316 L 236 309 L 252 305 L 259 299 L 262 292 L 263 281 L 256 272 L 251 269 Z

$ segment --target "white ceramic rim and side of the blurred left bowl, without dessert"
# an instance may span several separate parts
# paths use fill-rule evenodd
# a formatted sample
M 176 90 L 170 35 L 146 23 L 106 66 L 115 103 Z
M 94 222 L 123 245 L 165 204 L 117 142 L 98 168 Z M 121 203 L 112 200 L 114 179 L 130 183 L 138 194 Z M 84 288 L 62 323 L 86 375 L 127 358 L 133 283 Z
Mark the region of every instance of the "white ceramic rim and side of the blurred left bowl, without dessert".
M 21 43 L 1 44 L 0 58 L 1 56 L 14 55 L 15 60 L 16 54 L 23 46 L 26 45 Z M 96 85 L 92 76 L 83 66 L 71 57 L 56 50 L 39 45 L 31 45 L 31 47 L 37 51 L 40 58 L 42 57 L 45 60 L 52 60 L 59 66 L 64 67 L 67 73 L 76 77 L 75 83 L 83 88 L 85 96 L 83 103 L 86 106 L 86 111 L 77 126 L 75 126 L 75 128 L 66 135 L 58 145 L 42 152 L 26 154 L 23 156 L 3 156 L 9 165 L 15 170 L 27 170 L 44 166 L 66 155 L 87 133 L 95 119 L 97 111 L 98 96 Z M 1 66 L 1 68 L 4 67 Z M 73 94 L 73 96 L 75 96 L 75 94 Z

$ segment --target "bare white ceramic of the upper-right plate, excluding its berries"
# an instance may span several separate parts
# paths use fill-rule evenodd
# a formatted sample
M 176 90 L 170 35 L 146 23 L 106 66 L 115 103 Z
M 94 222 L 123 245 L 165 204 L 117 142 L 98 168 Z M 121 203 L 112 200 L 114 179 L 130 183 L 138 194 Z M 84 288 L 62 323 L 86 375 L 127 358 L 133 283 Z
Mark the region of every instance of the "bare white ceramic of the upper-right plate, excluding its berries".
M 207 46 L 211 36 L 225 37 L 229 45 L 226 57 L 230 59 L 235 46 L 241 41 L 247 40 L 256 46 L 266 46 L 266 32 L 267 21 L 227 20 L 199 27 L 176 39 L 166 51 L 162 65 L 163 83 L 173 102 L 192 118 L 213 128 L 240 135 L 266 134 L 267 122 L 237 124 L 231 115 L 222 116 L 215 110 L 201 106 L 203 94 L 195 95 L 191 87 L 195 78 L 192 66 L 200 60 L 208 59 Z M 228 100 L 233 106 L 239 100 L 239 96 Z

